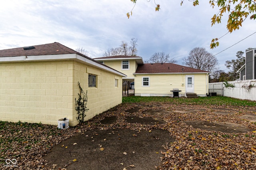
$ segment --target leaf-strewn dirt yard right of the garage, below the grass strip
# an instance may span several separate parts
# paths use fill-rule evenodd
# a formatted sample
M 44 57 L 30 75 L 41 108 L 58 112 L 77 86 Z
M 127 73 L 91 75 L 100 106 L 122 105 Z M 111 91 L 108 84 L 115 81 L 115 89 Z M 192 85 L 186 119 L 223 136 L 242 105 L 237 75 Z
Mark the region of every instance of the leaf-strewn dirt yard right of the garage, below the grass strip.
M 255 121 L 252 107 L 121 104 L 43 159 L 68 170 L 256 169 Z

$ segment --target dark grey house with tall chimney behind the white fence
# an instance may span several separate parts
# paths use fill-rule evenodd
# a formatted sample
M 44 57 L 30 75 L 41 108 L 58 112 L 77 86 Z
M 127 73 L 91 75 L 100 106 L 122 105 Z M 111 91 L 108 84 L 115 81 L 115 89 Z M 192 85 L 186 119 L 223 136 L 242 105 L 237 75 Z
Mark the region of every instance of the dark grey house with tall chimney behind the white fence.
M 246 51 L 245 64 L 237 70 L 240 80 L 256 79 L 256 49 Z

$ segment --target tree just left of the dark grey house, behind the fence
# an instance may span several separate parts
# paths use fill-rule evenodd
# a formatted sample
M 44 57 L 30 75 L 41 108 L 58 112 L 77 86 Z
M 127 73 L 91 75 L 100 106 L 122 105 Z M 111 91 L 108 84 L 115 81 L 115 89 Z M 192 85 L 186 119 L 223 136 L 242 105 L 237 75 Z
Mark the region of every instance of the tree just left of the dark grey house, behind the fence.
M 250 51 L 254 48 L 248 48 L 245 51 Z M 236 59 L 227 60 L 225 62 L 225 66 L 230 70 L 230 81 L 237 80 L 239 78 L 239 73 L 236 73 L 244 64 L 245 64 L 245 57 L 243 56 L 243 51 L 236 52 Z

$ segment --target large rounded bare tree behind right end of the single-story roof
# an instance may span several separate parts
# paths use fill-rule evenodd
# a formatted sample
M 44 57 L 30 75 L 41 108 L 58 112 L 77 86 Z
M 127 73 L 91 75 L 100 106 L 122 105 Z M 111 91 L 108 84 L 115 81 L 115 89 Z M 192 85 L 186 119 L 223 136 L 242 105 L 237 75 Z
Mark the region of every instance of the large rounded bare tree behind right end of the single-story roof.
M 183 58 L 182 63 L 185 66 L 208 72 L 213 72 L 218 69 L 219 64 L 218 59 L 202 47 L 192 49 L 188 57 Z

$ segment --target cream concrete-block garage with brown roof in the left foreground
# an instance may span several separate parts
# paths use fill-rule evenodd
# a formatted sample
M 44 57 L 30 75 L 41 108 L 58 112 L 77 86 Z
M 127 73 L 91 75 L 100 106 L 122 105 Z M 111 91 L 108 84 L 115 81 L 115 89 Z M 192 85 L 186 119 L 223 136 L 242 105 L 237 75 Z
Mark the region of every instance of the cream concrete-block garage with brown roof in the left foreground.
M 77 125 L 80 82 L 88 92 L 85 120 L 122 103 L 125 74 L 60 43 L 0 50 L 0 120 Z

